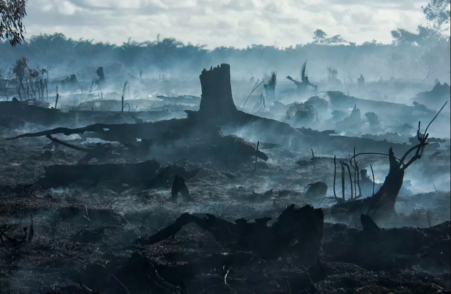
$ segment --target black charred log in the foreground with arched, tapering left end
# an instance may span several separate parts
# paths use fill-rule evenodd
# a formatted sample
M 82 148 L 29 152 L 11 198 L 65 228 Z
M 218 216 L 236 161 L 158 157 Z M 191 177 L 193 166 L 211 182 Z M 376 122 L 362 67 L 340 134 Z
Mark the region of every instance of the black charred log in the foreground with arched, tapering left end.
M 184 213 L 165 229 L 135 242 L 151 245 L 177 234 L 185 225 L 195 223 L 226 247 L 253 251 L 265 259 L 277 258 L 295 250 L 305 265 L 312 265 L 321 250 L 324 214 L 321 208 L 306 205 L 295 209 L 294 206 L 288 206 L 271 227 L 267 226 L 271 220 L 267 217 L 256 219 L 255 223 L 245 219 L 230 223 L 211 214 L 198 217 Z M 295 240 L 297 242 L 293 242 Z

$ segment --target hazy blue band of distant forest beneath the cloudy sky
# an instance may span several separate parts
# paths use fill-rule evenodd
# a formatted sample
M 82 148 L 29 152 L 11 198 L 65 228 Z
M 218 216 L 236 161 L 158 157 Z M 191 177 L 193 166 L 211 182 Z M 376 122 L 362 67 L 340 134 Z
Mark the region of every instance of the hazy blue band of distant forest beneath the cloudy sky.
M 341 36 L 328 36 L 318 29 L 312 32 L 313 40 L 288 48 L 250 45 L 246 49 L 218 47 L 207 50 L 205 45 L 183 44 L 174 38 L 136 42 L 131 39 L 122 45 L 73 40 L 61 33 L 26 37 L 21 45 L 11 47 L 8 41 L 0 43 L 0 75 L 7 76 L 13 60 L 26 57 L 30 68 L 48 68 L 51 78 L 64 77 L 76 71 L 86 78 L 95 76 L 98 66 L 105 74 L 128 73 L 154 77 L 194 77 L 202 68 L 221 62 L 230 63 L 232 78 L 261 77 L 276 70 L 295 74 L 304 60 L 309 62 L 313 80 L 324 79 L 326 67 L 338 71 L 345 83 L 356 82 L 363 74 L 368 81 L 404 80 L 432 82 L 438 78 L 450 81 L 449 0 L 431 1 L 435 7 L 423 7 L 428 24 L 418 26 L 416 32 L 395 29 L 391 32 L 392 44 L 369 40 L 357 45 Z M 444 6 L 445 5 L 445 6 Z M 448 5 L 448 7 L 447 7 Z M 444 8 L 445 7 L 445 8 Z M 283 73 L 282 73 L 283 74 Z M 428 75 L 429 74 L 429 75 Z M 425 80 L 426 79 L 426 80 Z

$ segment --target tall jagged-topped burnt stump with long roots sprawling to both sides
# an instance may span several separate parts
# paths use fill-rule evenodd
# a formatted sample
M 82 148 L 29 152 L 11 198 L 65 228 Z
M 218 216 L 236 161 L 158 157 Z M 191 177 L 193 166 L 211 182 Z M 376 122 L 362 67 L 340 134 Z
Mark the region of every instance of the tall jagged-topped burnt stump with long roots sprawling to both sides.
M 169 135 L 171 140 L 198 138 L 211 129 L 220 125 L 236 129 L 249 126 L 252 132 L 263 132 L 267 140 L 298 150 L 300 146 L 311 144 L 315 150 L 323 152 L 336 151 L 337 147 L 349 150 L 356 147 L 362 152 L 387 150 L 387 142 L 375 141 L 368 138 L 345 136 L 330 136 L 331 131 L 320 132 L 324 135 L 313 135 L 307 129 L 295 129 L 289 124 L 274 119 L 261 118 L 237 110 L 233 102 L 230 85 L 230 65 L 221 64 L 210 70 L 204 69 L 200 75 L 202 97 L 198 111 L 185 112 L 188 118 L 160 120 L 138 124 L 104 124 L 96 123 L 81 128 L 59 127 L 36 133 L 25 133 L 13 138 L 45 136 L 47 134 L 64 133 L 83 134 L 92 132 L 90 136 L 106 141 L 134 142 L 136 139 L 155 139 Z M 395 152 L 405 152 L 410 146 L 391 144 Z

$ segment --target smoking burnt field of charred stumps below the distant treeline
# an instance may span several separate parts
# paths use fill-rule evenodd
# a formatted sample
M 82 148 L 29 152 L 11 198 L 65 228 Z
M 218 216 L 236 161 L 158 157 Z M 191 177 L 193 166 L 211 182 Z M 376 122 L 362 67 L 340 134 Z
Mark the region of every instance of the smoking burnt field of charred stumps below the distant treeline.
M 30 76 L 48 60 L 35 54 L 0 89 L 0 292 L 450 292 L 446 70 L 387 76 L 368 54 L 353 70 L 334 59 L 339 74 L 311 56 L 139 71 L 104 56 Z M 355 204 L 433 119 L 378 213 Z

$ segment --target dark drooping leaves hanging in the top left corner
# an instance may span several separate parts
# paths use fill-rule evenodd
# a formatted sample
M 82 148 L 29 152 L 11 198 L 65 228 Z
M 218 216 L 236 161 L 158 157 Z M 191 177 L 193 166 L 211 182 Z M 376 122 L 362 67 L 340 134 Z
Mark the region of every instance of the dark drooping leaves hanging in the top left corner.
M 27 0 L 0 0 L 0 39 L 9 40 L 13 47 L 24 39 L 26 3 Z

